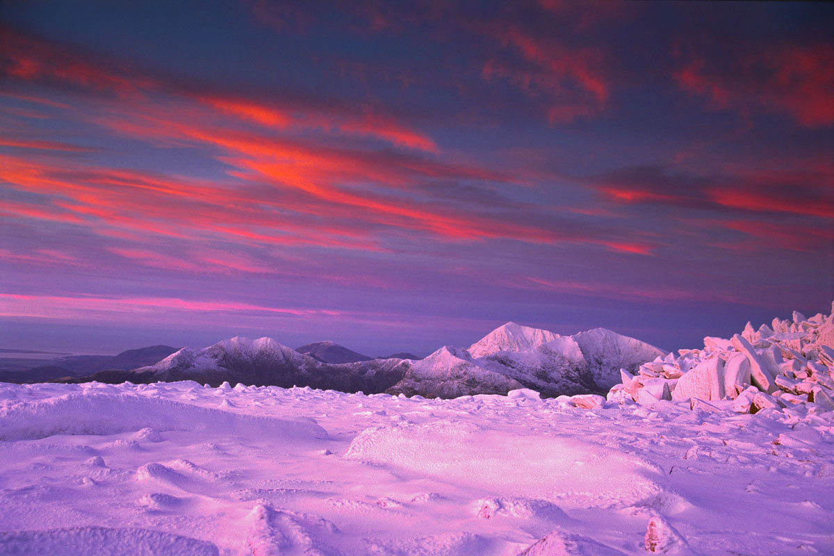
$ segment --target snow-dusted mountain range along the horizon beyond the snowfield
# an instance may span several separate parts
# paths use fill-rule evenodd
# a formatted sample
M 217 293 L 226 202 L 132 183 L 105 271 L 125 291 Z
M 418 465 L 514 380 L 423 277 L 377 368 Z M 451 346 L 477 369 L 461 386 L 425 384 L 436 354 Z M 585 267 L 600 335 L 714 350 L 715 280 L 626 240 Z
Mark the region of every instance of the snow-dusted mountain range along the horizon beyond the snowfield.
M 545 397 L 605 393 L 666 353 L 605 328 L 573 336 L 506 323 L 469 348 L 444 346 L 428 357 L 368 358 L 332 342 L 292 349 L 272 338 L 230 338 L 208 348 L 182 348 L 157 363 L 130 371 L 107 370 L 62 382 L 152 383 L 194 380 L 309 386 L 343 392 L 403 393 L 456 398 L 531 388 Z

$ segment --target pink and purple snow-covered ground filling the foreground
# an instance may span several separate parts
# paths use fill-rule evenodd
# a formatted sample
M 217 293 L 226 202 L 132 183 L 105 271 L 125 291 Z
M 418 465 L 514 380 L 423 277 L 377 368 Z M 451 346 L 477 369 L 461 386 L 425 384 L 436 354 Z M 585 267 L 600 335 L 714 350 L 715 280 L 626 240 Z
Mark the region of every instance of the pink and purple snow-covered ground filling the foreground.
M 3 554 L 831 554 L 834 412 L 0 383 L 0 508 Z

